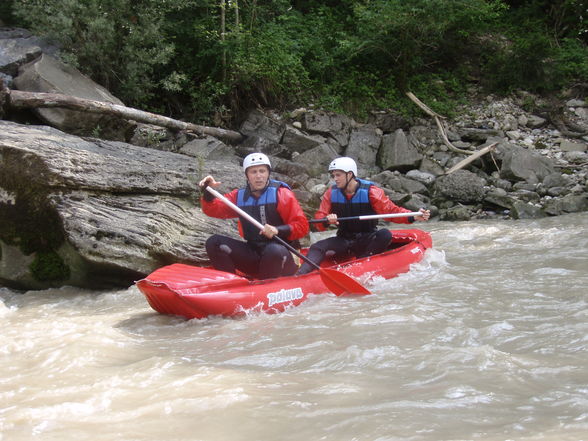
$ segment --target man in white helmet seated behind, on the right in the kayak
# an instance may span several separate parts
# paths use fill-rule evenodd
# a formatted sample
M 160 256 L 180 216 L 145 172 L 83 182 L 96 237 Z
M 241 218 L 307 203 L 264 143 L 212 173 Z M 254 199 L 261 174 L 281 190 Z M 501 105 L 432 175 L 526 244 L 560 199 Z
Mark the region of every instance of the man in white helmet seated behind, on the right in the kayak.
M 325 257 L 356 257 L 372 256 L 388 248 L 392 241 L 392 233 L 387 228 L 377 229 L 378 220 L 345 220 L 338 218 L 356 217 L 373 214 L 409 213 L 410 210 L 394 204 L 380 187 L 370 181 L 357 177 L 357 164 L 352 158 L 341 157 L 329 164 L 329 173 L 335 181 L 321 199 L 315 219 L 326 218 L 328 225 L 337 225 L 337 235 L 314 243 L 308 251 L 308 258 L 317 265 Z M 415 220 L 426 221 L 430 211 L 421 209 L 416 217 L 391 218 L 397 223 L 412 223 Z M 318 223 L 319 231 L 327 226 Z M 297 274 L 306 274 L 314 269 L 303 263 Z

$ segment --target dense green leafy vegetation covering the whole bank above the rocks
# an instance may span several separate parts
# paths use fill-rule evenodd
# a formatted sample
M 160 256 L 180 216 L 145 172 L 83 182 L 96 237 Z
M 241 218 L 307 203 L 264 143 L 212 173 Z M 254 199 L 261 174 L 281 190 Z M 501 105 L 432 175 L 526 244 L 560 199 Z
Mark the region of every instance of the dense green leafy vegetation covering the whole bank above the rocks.
M 7 0 L 10 24 L 128 105 L 227 124 L 254 106 L 449 114 L 474 84 L 555 93 L 588 78 L 583 0 Z

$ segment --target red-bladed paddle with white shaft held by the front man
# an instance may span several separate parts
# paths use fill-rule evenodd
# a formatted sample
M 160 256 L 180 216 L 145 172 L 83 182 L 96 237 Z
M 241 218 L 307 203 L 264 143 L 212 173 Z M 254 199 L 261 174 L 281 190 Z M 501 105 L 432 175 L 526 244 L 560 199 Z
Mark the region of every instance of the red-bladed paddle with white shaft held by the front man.
M 251 217 L 248 213 L 241 210 L 239 207 L 237 207 L 235 204 L 229 201 L 226 197 L 224 197 L 214 188 L 208 186 L 206 187 L 206 190 L 208 190 L 210 194 L 218 198 L 225 205 L 233 209 L 233 211 L 238 213 L 241 217 L 247 219 L 260 230 L 263 230 L 263 225 L 260 222 L 258 222 L 257 219 Z M 349 277 L 347 274 L 340 273 L 339 271 L 334 270 L 332 268 L 321 268 L 319 265 L 314 263 L 304 254 L 298 252 L 298 250 L 296 250 L 294 247 L 292 247 L 290 244 L 284 241 L 281 237 L 274 236 L 273 239 L 284 245 L 291 253 L 294 253 L 299 258 L 301 258 L 305 262 L 308 262 L 310 265 L 319 270 L 321 280 L 323 281 L 325 286 L 335 295 L 340 296 L 341 294 L 371 294 L 371 292 L 368 291 L 367 288 L 365 288 L 359 282 Z

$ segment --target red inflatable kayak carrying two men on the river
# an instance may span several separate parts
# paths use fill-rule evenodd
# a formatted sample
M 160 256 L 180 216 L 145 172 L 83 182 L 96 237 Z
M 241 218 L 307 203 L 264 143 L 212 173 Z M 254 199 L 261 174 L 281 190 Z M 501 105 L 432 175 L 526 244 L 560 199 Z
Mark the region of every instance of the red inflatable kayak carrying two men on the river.
M 421 230 L 393 230 L 392 233 L 390 249 L 382 254 L 338 263 L 325 261 L 321 266 L 362 281 L 377 276 L 390 279 L 407 272 L 432 246 L 431 236 Z M 303 276 L 250 280 L 184 264 L 162 267 L 136 285 L 154 310 L 189 319 L 209 315 L 233 317 L 249 310 L 275 313 L 299 305 L 311 294 L 330 292 L 318 271 Z

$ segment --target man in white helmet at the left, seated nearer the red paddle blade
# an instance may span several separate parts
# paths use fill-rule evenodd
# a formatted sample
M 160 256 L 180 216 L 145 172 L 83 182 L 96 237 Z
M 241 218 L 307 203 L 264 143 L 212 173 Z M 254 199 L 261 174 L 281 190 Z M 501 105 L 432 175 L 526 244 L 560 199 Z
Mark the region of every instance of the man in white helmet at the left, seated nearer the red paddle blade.
M 286 247 L 271 240 L 274 236 L 299 248 L 298 239 L 308 234 L 308 220 L 290 187 L 270 179 L 271 163 L 263 153 L 251 153 L 243 160 L 247 184 L 224 196 L 264 225 L 262 231 L 239 218 L 239 234 L 246 242 L 214 234 L 206 241 L 206 252 L 212 266 L 221 271 L 241 271 L 259 279 L 289 276 L 298 265 Z M 212 176 L 199 183 L 202 189 L 202 211 L 221 219 L 238 217 L 237 213 L 215 199 L 206 186 L 218 187 Z

